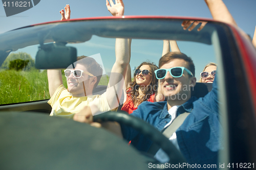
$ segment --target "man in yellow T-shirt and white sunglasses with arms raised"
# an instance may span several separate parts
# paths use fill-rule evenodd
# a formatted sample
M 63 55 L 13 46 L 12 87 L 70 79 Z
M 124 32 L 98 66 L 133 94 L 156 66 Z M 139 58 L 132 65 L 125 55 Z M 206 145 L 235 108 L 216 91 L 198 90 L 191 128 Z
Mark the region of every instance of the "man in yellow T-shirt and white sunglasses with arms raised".
M 61 10 L 61 20 L 70 19 L 70 6 Z M 109 85 L 102 95 L 92 95 L 93 89 L 99 83 L 102 75 L 101 66 L 90 57 L 78 57 L 78 61 L 65 70 L 68 88 L 63 86 L 61 70 L 48 69 L 48 83 L 51 99 L 48 103 L 52 107 L 50 116 L 73 118 L 85 106 L 90 107 L 92 114 L 99 114 L 118 107 L 122 94 L 123 79 L 129 64 L 127 39 L 117 38 L 116 61 L 112 67 Z

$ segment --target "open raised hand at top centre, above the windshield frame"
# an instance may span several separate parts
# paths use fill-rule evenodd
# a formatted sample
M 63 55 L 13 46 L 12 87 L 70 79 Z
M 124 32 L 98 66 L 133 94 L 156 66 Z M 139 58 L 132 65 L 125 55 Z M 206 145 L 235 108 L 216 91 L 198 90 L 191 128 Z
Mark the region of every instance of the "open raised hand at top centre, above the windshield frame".
M 122 16 L 124 13 L 124 4 L 122 0 L 115 0 L 116 4 L 112 0 L 110 2 L 106 0 L 106 8 L 113 16 Z

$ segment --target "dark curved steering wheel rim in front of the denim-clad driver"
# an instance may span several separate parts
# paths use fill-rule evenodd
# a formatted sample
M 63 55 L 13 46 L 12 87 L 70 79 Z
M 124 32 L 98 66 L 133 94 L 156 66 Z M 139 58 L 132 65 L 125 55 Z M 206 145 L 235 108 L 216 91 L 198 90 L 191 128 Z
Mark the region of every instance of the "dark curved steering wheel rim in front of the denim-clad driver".
M 129 115 L 126 112 L 105 112 L 103 114 L 98 114 L 93 117 L 94 122 L 118 122 L 119 124 L 124 124 L 126 126 L 131 126 L 136 129 L 144 136 L 148 137 L 162 148 L 162 150 L 168 155 L 169 163 L 179 164 L 186 162 L 183 155 L 177 150 L 175 145 L 169 141 L 162 133 L 160 133 L 156 128 L 150 124 L 144 122 L 142 119 Z

